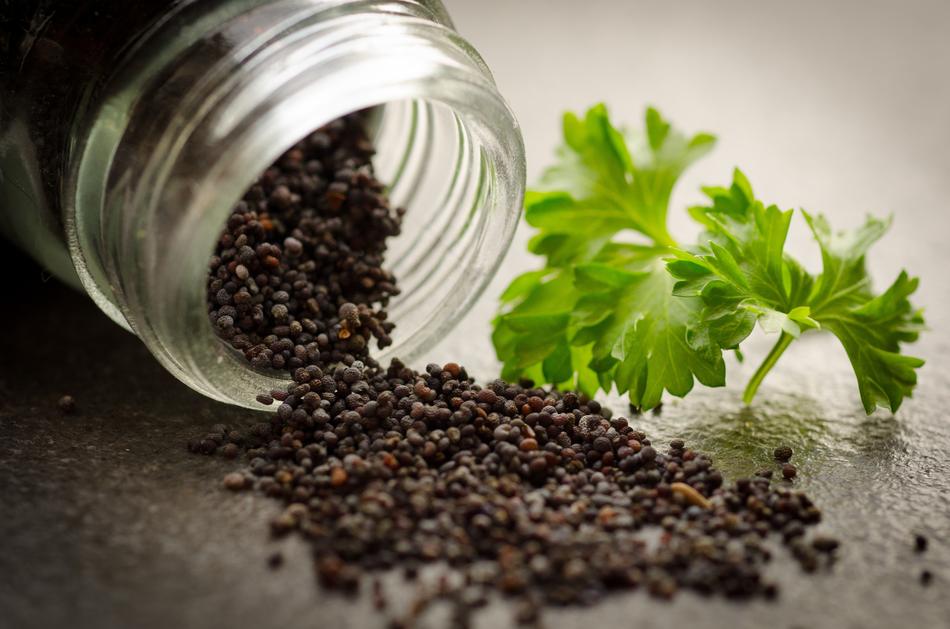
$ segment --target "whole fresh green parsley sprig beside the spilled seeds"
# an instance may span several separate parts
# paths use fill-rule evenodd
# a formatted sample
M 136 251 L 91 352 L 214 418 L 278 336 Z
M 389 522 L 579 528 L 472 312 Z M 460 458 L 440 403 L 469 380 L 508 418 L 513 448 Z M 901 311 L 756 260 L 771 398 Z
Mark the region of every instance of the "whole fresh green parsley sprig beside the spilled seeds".
M 785 252 L 793 212 L 756 199 L 736 170 L 728 188 L 704 189 L 708 205 L 690 209 L 704 232 L 683 246 L 667 228 L 670 196 L 712 149 L 712 135 L 684 135 L 654 109 L 643 132 L 624 132 L 604 105 L 566 114 L 563 134 L 556 164 L 525 199 L 538 230 L 529 249 L 544 267 L 509 285 L 494 321 L 505 377 L 591 395 L 616 387 L 653 408 L 664 391 L 684 396 L 695 380 L 723 386 L 723 350 L 738 351 L 758 323 L 779 337 L 746 402 L 796 338 L 821 329 L 844 346 L 868 413 L 896 411 L 910 396 L 923 361 L 900 346 L 923 328 L 908 299 L 918 282 L 901 272 L 875 294 L 865 265 L 888 221 L 834 233 L 802 211 L 822 251 L 814 276 Z

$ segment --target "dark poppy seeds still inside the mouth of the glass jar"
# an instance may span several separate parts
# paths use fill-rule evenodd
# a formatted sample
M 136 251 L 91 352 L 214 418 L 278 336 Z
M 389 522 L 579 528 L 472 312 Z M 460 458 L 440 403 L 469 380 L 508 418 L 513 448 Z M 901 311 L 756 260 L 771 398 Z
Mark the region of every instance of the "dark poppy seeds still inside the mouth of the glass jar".
M 340 118 L 287 151 L 228 218 L 208 314 L 254 366 L 368 360 L 371 339 L 392 343 L 383 308 L 398 291 L 382 262 L 403 212 L 390 208 L 372 154 L 362 116 Z

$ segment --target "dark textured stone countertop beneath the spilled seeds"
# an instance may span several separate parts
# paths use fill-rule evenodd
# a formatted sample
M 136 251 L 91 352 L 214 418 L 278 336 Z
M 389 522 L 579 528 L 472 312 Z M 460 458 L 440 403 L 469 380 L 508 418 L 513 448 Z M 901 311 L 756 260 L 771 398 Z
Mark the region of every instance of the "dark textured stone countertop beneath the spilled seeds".
M 82 296 L 55 283 L 20 295 L 0 315 L 0 627 L 380 624 L 368 597 L 318 589 L 299 539 L 270 540 L 277 503 L 221 487 L 237 463 L 186 451 L 212 424 L 250 422 L 253 413 L 172 379 Z M 733 475 L 768 465 L 775 444 L 792 444 L 797 484 L 824 508 L 822 529 L 845 542 L 830 572 L 806 577 L 780 550 L 770 569 L 782 586 L 775 603 L 690 594 L 664 603 L 639 592 L 558 610 L 548 624 L 622 626 L 649 614 L 654 626 L 946 626 L 947 363 L 937 335 L 928 338 L 920 349 L 932 362 L 897 417 L 864 417 L 844 365 L 822 365 L 827 339 L 815 338 L 798 354 L 802 369 L 784 369 L 753 409 L 735 391 L 699 391 L 638 420 L 657 437 L 682 435 L 715 453 Z M 806 366 L 811 358 L 817 366 Z M 77 399 L 74 415 L 56 407 L 64 392 Z M 913 552 L 917 531 L 930 538 L 923 555 Z M 277 549 L 286 561 L 272 572 L 266 560 Z M 936 575 L 929 587 L 918 582 L 924 568 Z M 390 596 L 411 591 L 394 585 Z M 479 618 L 493 626 L 510 614 L 497 605 Z

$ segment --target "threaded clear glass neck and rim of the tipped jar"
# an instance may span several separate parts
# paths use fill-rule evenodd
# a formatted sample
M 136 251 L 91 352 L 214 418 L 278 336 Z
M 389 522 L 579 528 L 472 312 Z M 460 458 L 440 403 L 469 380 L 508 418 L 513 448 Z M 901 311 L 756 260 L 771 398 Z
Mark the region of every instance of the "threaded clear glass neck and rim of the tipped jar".
M 467 214 L 465 237 L 443 249 L 460 256 L 451 262 L 469 277 L 456 273 L 440 286 L 420 277 L 405 291 L 408 303 L 430 304 L 423 316 L 410 309 L 415 316 L 396 337 L 392 351 L 409 358 L 464 312 L 500 261 L 517 224 L 524 157 L 487 68 L 437 3 L 221 6 L 130 53 L 80 147 L 65 218 L 74 264 L 103 310 L 186 384 L 253 408 L 257 393 L 286 378 L 252 369 L 217 338 L 206 282 L 221 228 L 259 173 L 352 111 L 383 106 L 386 118 L 390 104 L 402 103 L 416 112 L 414 124 L 433 108 L 457 122 L 471 163 L 456 164 L 467 169 L 467 192 L 449 206 Z M 418 144 L 387 173 L 400 179 L 397 203 L 411 201 L 424 178 L 425 163 L 404 177 L 406 161 L 434 159 L 420 158 Z M 454 301 L 438 301 L 440 290 L 455 291 Z

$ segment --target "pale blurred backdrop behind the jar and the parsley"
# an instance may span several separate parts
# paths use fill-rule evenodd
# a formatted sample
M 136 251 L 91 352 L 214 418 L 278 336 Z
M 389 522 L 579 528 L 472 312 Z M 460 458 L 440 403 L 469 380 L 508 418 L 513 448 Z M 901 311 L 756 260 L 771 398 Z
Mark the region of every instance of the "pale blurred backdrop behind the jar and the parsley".
M 521 123 L 529 186 L 553 161 L 564 111 L 604 101 L 616 123 L 639 128 L 652 105 L 686 132 L 719 138 L 674 192 L 677 237 L 697 231 L 683 210 L 700 200 L 699 186 L 726 185 L 739 166 L 766 202 L 823 212 L 839 229 L 856 227 L 867 213 L 893 214 L 891 233 L 870 257 L 877 285 L 906 267 L 924 277 L 918 301 L 950 290 L 934 268 L 947 260 L 950 237 L 946 0 L 445 4 Z M 536 264 L 525 253 L 529 236 L 523 225 L 486 299 L 463 324 L 467 343 L 484 344 L 473 355 L 491 354 L 492 298 Z M 820 268 L 800 217 L 789 251 Z M 439 357 L 454 355 L 456 342 L 447 339 Z

